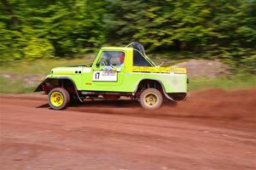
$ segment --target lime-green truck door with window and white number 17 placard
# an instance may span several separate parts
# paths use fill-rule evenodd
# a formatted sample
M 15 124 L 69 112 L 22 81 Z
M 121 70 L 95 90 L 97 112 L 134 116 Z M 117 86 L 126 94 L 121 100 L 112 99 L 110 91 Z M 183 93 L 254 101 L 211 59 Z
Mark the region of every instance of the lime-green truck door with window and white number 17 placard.
M 96 91 L 113 91 L 114 86 L 124 82 L 125 52 L 102 51 L 92 65 L 90 72 L 83 71 L 84 89 Z

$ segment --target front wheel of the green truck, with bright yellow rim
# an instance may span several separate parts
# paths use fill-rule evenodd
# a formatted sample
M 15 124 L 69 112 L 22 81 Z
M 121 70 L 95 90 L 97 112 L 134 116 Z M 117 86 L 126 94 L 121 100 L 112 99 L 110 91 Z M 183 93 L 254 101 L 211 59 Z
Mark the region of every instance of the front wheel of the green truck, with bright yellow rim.
M 48 104 L 54 110 L 62 110 L 67 107 L 70 95 L 65 88 L 53 88 L 48 94 Z

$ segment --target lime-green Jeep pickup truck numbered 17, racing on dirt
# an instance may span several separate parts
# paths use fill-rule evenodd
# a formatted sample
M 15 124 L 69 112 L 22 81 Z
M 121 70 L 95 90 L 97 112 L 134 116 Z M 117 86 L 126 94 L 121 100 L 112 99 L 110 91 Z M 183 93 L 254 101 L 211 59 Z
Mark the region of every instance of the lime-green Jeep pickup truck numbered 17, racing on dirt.
M 120 96 L 137 99 L 153 110 L 164 99 L 185 99 L 187 75 L 184 68 L 154 65 L 143 46 L 132 42 L 126 47 L 101 48 L 90 66 L 54 68 L 35 91 L 48 94 L 48 103 L 55 110 L 64 109 L 70 101 Z

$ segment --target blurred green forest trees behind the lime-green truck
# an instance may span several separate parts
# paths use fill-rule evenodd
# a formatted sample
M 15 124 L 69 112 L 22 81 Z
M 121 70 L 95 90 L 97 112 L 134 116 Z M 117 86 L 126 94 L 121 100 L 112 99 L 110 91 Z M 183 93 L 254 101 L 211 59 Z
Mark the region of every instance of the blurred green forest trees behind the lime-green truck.
M 256 0 L 0 0 L 1 63 L 133 41 L 253 69 Z

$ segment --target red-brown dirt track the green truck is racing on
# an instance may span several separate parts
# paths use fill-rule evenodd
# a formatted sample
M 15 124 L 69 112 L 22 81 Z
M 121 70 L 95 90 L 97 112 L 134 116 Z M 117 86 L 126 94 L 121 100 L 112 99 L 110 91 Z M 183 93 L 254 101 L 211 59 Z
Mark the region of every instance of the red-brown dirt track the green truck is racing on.
M 256 88 L 195 92 L 159 111 L 129 100 L 46 103 L 0 96 L 1 169 L 256 169 Z

